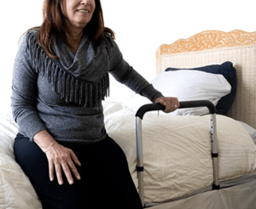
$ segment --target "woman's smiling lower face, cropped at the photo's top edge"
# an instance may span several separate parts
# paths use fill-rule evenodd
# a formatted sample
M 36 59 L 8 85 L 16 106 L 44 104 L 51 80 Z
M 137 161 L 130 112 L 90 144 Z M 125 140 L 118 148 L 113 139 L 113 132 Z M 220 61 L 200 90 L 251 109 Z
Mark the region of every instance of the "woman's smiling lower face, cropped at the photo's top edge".
M 90 22 L 95 10 L 95 0 L 63 0 L 61 8 L 68 23 L 77 28 L 84 28 Z

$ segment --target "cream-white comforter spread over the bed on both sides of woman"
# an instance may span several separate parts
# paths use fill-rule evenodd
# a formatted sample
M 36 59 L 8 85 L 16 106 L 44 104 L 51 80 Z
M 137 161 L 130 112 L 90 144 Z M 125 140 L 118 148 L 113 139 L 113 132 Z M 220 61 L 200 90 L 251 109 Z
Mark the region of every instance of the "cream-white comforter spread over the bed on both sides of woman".
M 125 151 L 131 176 L 138 186 L 135 137 L 136 110 L 118 102 L 104 101 L 103 106 L 108 134 Z M 179 117 L 179 119 L 177 119 L 177 117 Z M 191 195 L 201 189 L 209 189 L 212 184 L 210 140 L 194 140 L 191 144 L 190 137 L 183 138 L 181 133 L 178 133 L 178 130 L 185 130 L 187 128 L 184 127 L 189 127 L 193 124 L 195 129 L 193 132 L 198 134 L 201 139 L 204 138 L 205 135 L 209 136 L 209 126 L 206 125 L 209 118 L 207 117 L 208 116 L 172 116 L 172 120 L 170 120 L 170 116 L 166 114 L 157 116 L 156 112 L 148 113 L 144 116 L 144 138 L 150 136 L 149 139 L 144 139 L 143 141 L 146 202 L 177 199 L 183 195 Z M 190 119 L 183 120 L 185 118 L 190 118 L 193 122 L 191 123 L 191 121 L 189 121 Z M 152 122 L 153 120 L 154 122 Z M 181 127 L 179 127 L 178 124 L 180 124 Z M 217 124 L 217 130 L 220 134 L 219 143 L 221 144 L 219 149 L 221 151 L 224 147 L 228 147 L 228 155 L 230 155 L 230 158 L 223 158 L 222 154 L 220 155 L 220 182 L 228 178 L 239 178 L 245 173 L 255 171 L 255 145 L 246 129 L 239 122 L 224 116 L 217 117 Z M 230 125 L 227 126 L 227 124 Z M 173 126 L 175 128 L 173 128 Z M 10 110 L 0 114 L 0 208 L 40 209 L 42 206 L 40 201 L 38 201 L 37 194 L 32 188 L 32 184 L 24 172 L 22 172 L 20 166 L 15 162 L 13 143 L 15 135 L 18 132 L 17 128 Z M 226 138 L 226 134 L 221 131 L 222 129 L 235 129 L 237 133 L 232 133 L 233 131 L 228 132 L 230 136 L 228 139 L 222 141 L 221 138 Z M 176 130 L 177 134 L 179 134 L 179 140 L 177 140 L 175 144 L 172 142 L 172 146 L 167 145 L 170 143 L 167 142 L 165 138 L 167 135 L 170 136 L 170 130 Z M 191 134 L 189 130 L 186 132 L 188 133 L 185 133 L 185 135 Z M 241 137 L 237 137 L 239 134 L 241 134 Z M 234 140 L 234 138 L 238 139 Z M 242 141 L 244 138 L 247 141 L 246 144 Z M 178 143 L 181 141 L 186 144 L 183 150 L 178 148 Z M 230 144 L 230 142 L 232 143 Z M 187 150 L 189 146 L 187 146 L 187 144 L 189 143 L 193 147 L 192 153 L 191 150 Z M 172 149 L 173 144 L 177 147 L 174 150 Z M 239 149 L 235 147 L 235 144 L 239 146 Z M 156 149 L 156 147 L 158 147 L 158 149 Z M 200 147 L 203 148 L 203 152 L 200 151 Z M 152 150 L 152 148 L 154 149 Z M 247 153 L 245 154 L 241 152 L 241 150 L 246 150 Z M 171 153 L 171 155 L 164 155 L 166 152 Z M 235 152 L 236 154 L 241 154 L 241 156 L 235 155 Z M 195 157 L 197 154 L 200 156 L 199 161 Z M 242 156 L 247 155 L 251 155 L 249 160 L 242 158 Z M 177 160 L 173 161 L 173 159 Z M 181 161 L 182 159 L 183 161 Z M 236 161 L 237 164 L 243 165 L 243 167 L 232 166 L 230 160 Z M 189 161 L 189 167 L 185 166 L 187 167 L 185 171 L 178 170 L 178 167 L 181 167 L 181 164 L 185 163 L 185 161 Z M 165 165 L 172 165 L 172 171 L 168 171 Z M 175 172 L 173 172 L 173 167 L 175 167 Z M 224 167 L 228 167 L 228 169 L 224 171 Z M 230 173 L 230 168 L 236 170 L 236 174 Z M 204 175 L 197 176 L 197 172 L 203 172 Z M 177 177 L 176 180 L 174 180 L 174 177 Z M 181 188 L 181 185 L 186 181 L 189 182 L 190 185 L 187 184 Z M 172 191 L 171 188 L 173 188 L 174 191 Z

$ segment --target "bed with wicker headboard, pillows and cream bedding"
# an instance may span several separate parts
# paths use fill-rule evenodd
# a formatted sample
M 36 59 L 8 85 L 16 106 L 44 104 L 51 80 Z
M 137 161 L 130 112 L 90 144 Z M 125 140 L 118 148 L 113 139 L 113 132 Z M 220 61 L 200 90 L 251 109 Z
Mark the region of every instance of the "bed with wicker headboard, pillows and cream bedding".
M 156 53 L 152 84 L 180 101 L 217 109 L 219 186 L 212 190 L 207 108 L 148 112 L 143 118 L 144 206 L 152 209 L 256 208 L 256 32 L 203 31 Z M 192 82 L 193 81 L 193 82 Z M 148 99 L 103 101 L 106 129 L 125 151 L 138 189 L 135 114 Z M 0 114 L 0 208 L 42 208 L 15 162 L 18 127 Z M 121 137 L 120 137 L 121 136 Z

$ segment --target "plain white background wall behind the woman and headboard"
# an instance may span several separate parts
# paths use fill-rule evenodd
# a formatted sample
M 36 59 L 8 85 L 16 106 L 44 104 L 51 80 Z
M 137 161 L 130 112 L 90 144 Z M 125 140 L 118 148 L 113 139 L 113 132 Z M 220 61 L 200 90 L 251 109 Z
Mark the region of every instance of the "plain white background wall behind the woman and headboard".
M 3 1 L 0 8 L 0 109 L 9 108 L 12 70 L 21 34 L 41 25 L 44 0 Z M 161 44 L 201 31 L 256 31 L 255 0 L 102 0 L 105 25 L 116 33 L 124 59 L 150 82 Z M 123 101 L 131 90 L 111 77 L 108 100 Z

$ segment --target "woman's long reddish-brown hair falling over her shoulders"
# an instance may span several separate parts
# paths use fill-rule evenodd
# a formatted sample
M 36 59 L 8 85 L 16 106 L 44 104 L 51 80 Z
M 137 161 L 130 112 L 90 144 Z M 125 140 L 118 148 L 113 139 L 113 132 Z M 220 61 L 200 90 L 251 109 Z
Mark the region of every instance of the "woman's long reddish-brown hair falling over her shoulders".
M 72 48 L 72 46 L 67 42 L 66 32 L 68 31 L 65 30 L 65 28 L 67 28 L 67 23 L 61 10 L 61 1 L 62 0 L 44 0 L 43 24 L 41 26 L 32 27 L 23 33 L 24 35 L 28 31 L 39 29 L 38 44 L 44 48 L 45 53 L 52 59 L 57 59 L 55 52 L 50 47 L 52 38 L 55 37 L 55 35 L 61 37 L 63 42 L 65 42 L 69 48 Z M 110 33 L 113 39 L 115 37 L 114 32 L 104 26 L 101 1 L 95 0 L 95 3 L 95 11 L 90 22 L 84 27 L 84 31 L 86 30 L 88 33 L 90 39 L 94 43 L 94 47 L 97 47 L 101 44 L 102 40 L 105 39 L 104 32 Z

